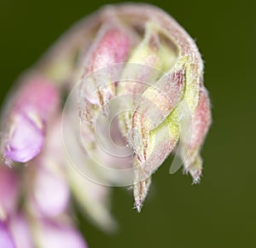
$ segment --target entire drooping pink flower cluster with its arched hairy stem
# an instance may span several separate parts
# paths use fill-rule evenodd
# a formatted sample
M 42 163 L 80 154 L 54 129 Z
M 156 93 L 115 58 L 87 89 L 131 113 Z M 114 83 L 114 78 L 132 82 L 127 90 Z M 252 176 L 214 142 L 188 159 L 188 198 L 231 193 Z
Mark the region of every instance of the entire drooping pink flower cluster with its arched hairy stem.
M 104 185 L 132 185 L 141 211 L 178 141 L 199 182 L 211 107 L 194 40 L 162 10 L 131 3 L 73 26 L 20 79 L 1 119 L 1 157 L 12 169 L 0 166 L 0 248 L 84 248 L 71 194 L 111 231 Z

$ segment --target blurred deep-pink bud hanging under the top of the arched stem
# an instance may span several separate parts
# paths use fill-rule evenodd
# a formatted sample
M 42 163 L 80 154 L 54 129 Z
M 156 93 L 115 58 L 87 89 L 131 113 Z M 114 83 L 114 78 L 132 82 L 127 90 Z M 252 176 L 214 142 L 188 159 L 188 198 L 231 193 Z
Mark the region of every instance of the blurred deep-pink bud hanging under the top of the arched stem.
M 85 108 L 82 118 L 86 121 L 94 121 L 97 107 L 108 115 L 108 100 L 115 95 L 116 82 L 113 78 L 119 73 L 108 69 L 108 66 L 125 62 L 132 43 L 133 37 L 127 27 L 117 25 L 113 21 L 103 25 L 98 32 L 84 60 L 85 81 L 80 89 L 81 105 Z M 96 72 L 102 68 L 103 73 Z

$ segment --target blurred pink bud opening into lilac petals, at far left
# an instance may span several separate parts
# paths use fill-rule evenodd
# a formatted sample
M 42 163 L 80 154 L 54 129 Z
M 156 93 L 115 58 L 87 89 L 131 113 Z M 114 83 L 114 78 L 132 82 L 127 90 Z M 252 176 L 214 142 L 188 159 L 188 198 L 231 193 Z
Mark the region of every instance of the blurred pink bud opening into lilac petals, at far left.
M 25 78 L 9 107 L 4 159 L 26 163 L 41 152 L 45 128 L 59 103 L 55 86 L 44 78 Z

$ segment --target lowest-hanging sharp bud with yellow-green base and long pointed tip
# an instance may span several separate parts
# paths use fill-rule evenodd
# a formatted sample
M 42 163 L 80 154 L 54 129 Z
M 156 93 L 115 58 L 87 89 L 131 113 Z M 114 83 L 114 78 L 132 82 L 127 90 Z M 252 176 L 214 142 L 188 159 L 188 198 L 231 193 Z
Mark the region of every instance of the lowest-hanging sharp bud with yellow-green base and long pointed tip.
M 177 109 L 174 109 L 165 121 L 149 132 L 148 139 L 145 141 L 148 146 L 148 159 L 142 164 L 138 162 L 137 158 L 135 159 L 136 167 L 134 168 L 134 173 L 136 183 L 133 187 L 133 195 L 135 207 L 138 212 L 141 211 L 143 201 L 147 197 L 148 188 L 151 183 L 151 175 L 172 152 L 179 136 L 180 117 Z

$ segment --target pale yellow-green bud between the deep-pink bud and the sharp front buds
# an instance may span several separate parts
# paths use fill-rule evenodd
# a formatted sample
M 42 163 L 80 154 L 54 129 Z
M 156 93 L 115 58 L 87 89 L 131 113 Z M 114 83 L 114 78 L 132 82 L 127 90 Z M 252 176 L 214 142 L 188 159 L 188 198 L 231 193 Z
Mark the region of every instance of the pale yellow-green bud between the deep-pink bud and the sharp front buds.
M 123 109 L 133 111 L 143 91 L 159 78 L 160 68 L 163 66 L 161 54 L 158 34 L 148 24 L 142 42 L 131 52 L 128 63 L 121 75 L 123 79 L 121 79 L 117 88 L 118 95 L 131 96 L 122 103 L 124 105 L 122 106 Z M 127 81 L 127 78 L 132 78 L 132 80 Z M 128 136 L 127 130 L 131 130 L 131 111 L 126 111 L 119 117 L 119 126 L 125 137 Z

